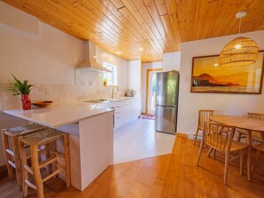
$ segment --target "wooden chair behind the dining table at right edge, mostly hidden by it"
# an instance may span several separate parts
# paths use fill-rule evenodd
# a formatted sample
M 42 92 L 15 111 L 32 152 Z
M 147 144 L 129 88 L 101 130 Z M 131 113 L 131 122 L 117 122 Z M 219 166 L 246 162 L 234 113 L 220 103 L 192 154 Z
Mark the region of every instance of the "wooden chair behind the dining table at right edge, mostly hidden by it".
M 259 114 L 259 113 L 247 113 L 248 117 L 253 118 L 253 119 L 259 119 L 259 120 L 264 120 L 264 114 Z M 241 139 L 246 138 L 246 131 L 244 130 L 236 130 L 238 132 L 237 135 L 237 141 L 240 141 Z M 260 135 L 260 132 L 258 131 L 252 131 L 252 139 L 258 142 L 263 142 L 263 139 Z

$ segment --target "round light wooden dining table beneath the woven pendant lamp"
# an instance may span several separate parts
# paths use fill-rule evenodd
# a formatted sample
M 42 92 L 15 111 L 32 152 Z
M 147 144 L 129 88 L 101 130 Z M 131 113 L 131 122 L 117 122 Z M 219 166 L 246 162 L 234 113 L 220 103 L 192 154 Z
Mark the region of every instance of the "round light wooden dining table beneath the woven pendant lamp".
M 247 154 L 247 178 L 252 178 L 252 131 L 260 131 L 262 139 L 264 139 L 264 120 L 249 118 L 246 116 L 234 115 L 211 115 L 209 118 L 215 123 L 235 126 L 236 129 L 246 130 L 246 139 L 248 147 Z

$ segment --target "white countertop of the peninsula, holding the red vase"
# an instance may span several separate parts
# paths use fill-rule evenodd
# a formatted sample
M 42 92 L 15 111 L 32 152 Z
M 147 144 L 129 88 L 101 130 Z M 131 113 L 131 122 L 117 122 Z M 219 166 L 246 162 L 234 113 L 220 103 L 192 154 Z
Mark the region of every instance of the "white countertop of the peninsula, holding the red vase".
M 58 128 L 70 123 L 77 123 L 81 120 L 95 115 L 104 114 L 109 111 L 113 111 L 113 109 L 100 108 L 81 102 L 67 105 L 52 104 L 49 107 L 33 107 L 30 110 L 4 110 L 3 112 L 5 114 L 13 115 L 33 123 L 39 123 L 48 127 Z

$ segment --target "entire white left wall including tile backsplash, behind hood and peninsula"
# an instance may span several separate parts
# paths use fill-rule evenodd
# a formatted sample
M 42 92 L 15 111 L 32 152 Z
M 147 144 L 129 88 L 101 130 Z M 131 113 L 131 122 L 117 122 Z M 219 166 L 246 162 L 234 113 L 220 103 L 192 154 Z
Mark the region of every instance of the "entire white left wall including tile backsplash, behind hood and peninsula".
M 20 97 L 8 91 L 12 80 L 10 72 L 34 84 L 31 100 L 65 103 L 110 97 L 111 88 L 103 86 L 101 73 L 75 70 L 83 59 L 82 40 L 0 2 L 0 130 L 25 123 L 2 113 L 3 109 L 20 108 Z M 100 63 L 106 61 L 117 66 L 117 83 L 124 95 L 127 60 L 100 48 L 97 48 L 97 59 Z M 3 164 L 1 146 L 0 166 Z

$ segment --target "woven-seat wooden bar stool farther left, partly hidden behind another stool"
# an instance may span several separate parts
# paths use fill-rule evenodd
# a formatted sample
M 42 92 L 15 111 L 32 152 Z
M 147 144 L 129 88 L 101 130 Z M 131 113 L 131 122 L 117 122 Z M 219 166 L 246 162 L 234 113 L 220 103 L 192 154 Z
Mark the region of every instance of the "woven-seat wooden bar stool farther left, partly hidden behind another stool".
M 44 130 L 44 127 L 36 123 L 2 130 L 4 155 L 5 155 L 5 161 L 8 171 L 8 177 L 13 178 L 13 169 L 14 169 L 16 171 L 16 178 L 20 190 L 22 189 L 22 173 L 21 173 L 18 138 L 20 136 L 25 136 L 34 133 L 36 131 L 42 131 L 42 130 Z

